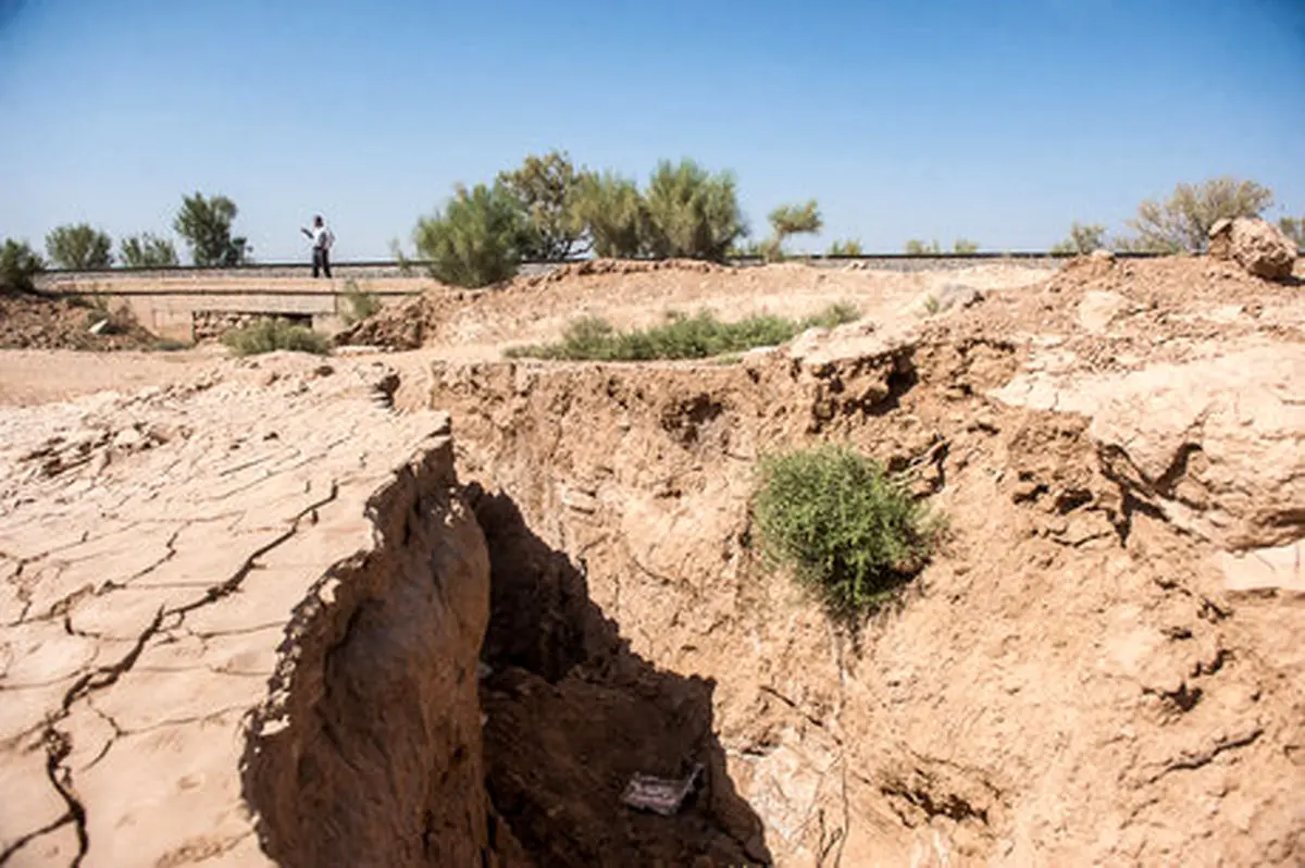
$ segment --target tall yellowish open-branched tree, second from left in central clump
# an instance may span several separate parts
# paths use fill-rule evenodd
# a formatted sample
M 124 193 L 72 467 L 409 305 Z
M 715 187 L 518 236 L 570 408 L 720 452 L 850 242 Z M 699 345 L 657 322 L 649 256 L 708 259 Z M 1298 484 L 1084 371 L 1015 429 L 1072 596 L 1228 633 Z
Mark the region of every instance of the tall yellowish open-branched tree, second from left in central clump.
M 523 258 L 556 262 L 583 252 L 585 223 L 577 209 L 582 178 L 570 158 L 556 150 L 530 154 L 519 168 L 499 172 L 499 184 L 525 215 Z

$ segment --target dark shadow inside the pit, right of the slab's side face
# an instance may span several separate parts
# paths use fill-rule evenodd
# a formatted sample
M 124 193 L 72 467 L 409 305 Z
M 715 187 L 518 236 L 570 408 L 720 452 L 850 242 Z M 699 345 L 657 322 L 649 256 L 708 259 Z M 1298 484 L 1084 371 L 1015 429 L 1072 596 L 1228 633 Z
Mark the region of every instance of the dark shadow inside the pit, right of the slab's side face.
M 586 577 L 526 526 L 505 495 L 465 491 L 489 548 L 482 653 L 485 788 L 538 865 L 769 865 L 713 731 L 715 683 L 630 651 Z M 636 773 L 699 786 L 673 816 L 629 808 Z

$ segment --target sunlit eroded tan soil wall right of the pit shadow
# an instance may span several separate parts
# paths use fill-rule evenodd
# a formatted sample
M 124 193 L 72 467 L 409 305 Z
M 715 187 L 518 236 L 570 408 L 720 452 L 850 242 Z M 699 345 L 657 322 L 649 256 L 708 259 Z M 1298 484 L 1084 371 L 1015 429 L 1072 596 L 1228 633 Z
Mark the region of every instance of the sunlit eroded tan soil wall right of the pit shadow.
M 1203 260 L 1084 261 L 739 365 L 437 362 L 428 401 L 463 476 L 582 569 L 633 654 L 715 681 L 776 864 L 1292 865 L 1302 304 Z M 950 522 L 859 636 L 749 547 L 756 457 L 825 440 L 911 474 Z M 540 723 L 569 707 L 540 690 L 495 713 L 585 744 L 579 714 Z M 530 828 L 536 852 L 587 852 L 570 824 Z

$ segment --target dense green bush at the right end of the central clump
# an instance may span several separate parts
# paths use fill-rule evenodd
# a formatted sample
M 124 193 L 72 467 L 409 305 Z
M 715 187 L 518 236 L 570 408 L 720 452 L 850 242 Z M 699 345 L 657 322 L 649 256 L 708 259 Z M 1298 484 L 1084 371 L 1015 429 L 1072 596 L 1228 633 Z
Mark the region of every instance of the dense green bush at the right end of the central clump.
M 658 163 L 645 200 L 651 222 L 650 247 L 659 258 L 719 261 L 748 234 L 733 175 L 711 174 L 692 159 Z

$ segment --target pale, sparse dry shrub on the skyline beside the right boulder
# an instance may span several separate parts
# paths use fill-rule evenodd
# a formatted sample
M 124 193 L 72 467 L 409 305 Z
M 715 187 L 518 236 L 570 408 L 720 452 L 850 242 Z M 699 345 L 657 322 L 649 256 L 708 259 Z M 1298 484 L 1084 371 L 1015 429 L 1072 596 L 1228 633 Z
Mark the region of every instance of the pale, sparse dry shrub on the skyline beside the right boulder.
M 1163 202 L 1146 200 L 1128 222 L 1137 235 L 1121 244 L 1147 253 L 1199 253 L 1210 241 L 1210 227 L 1224 218 L 1254 217 L 1274 201 L 1274 192 L 1255 181 L 1212 178 L 1178 184 Z

